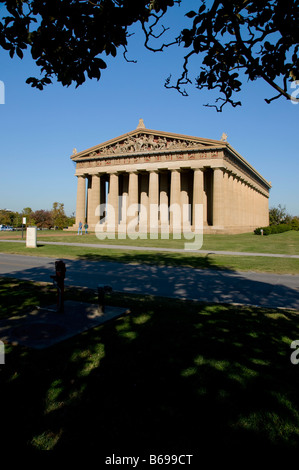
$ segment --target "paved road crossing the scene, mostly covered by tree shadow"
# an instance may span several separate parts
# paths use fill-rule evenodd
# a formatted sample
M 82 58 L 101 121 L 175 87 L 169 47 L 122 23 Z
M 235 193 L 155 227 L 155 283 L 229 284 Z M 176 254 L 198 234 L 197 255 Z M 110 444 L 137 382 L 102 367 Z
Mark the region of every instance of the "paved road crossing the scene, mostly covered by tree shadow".
M 0 253 L 0 276 L 50 281 L 54 259 Z M 65 260 L 66 285 L 299 310 L 299 276 Z

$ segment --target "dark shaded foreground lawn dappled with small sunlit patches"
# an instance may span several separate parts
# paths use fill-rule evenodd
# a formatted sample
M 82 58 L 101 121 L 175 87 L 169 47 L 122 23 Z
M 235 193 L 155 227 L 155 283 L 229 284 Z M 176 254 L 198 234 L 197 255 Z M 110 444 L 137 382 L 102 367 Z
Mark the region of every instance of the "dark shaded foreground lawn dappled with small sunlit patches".
M 55 295 L 13 279 L 0 293 L 2 319 Z M 66 298 L 95 301 L 87 289 Z M 6 345 L 3 448 L 94 450 L 99 466 L 111 450 L 298 448 L 298 313 L 117 293 L 109 304 L 131 314 L 45 350 Z

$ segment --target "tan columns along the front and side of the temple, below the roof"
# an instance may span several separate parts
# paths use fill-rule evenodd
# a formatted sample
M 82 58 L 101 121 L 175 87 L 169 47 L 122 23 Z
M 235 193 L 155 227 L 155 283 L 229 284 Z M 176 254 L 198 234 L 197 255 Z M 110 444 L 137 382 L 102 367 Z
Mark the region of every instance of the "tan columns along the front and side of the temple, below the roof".
M 204 225 L 216 227 L 224 226 L 262 226 L 267 225 L 268 198 L 245 180 L 237 175 L 225 171 L 223 168 L 203 168 L 189 170 L 189 179 L 180 169 L 171 169 L 170 188 L 167 172 L 157 170 L 140 173 L 101 173 L 78 176 L 76 225 L 85 221 L 94 227 L 100 220 L 98 205 L 107 202 L 114 211 L 107 213 L 107 230 L 109 227 L 118 227 L 127 224 L 127 209 L 129 206 L 140 203 L 139 230 L 147 231 L 149 218 L 148 208 L 151 204 L 150 220 L 160 227 L 169 225 L 171 229 L 181 228 L 182 220 L 178 220 L 175 212 L 168 211 L 169 205 L 190 204 L 191 214 L 188 216 L 190 224 L 196 218 L 196 207 L 203 204 Z M 119 191 L 119 175 L 122 178 L 121 198 Z M 190 180 L 190 175 L 192 175 Z M 206 176 L 205 176 L 206 175 Z M 88 180 L 86 191 L 86 177 Z M 106 198 L 105 184 L 108 178 L 108 192 Z M 147 180 L 148 178 L 148 180 Z M 191 188 L 191 189 L 190 189 Z M 121 204 L 121 207 L 119 207 Z M 160 213 L 158 214 L 158 206 Z M 145 208 L 145 210 L 144 210 Z M 156 210 L 156 213 L 155 213 Z M 137 213 L 130 214 L 130 218 Z M 186 219 L 186 218 L 185 218 Z

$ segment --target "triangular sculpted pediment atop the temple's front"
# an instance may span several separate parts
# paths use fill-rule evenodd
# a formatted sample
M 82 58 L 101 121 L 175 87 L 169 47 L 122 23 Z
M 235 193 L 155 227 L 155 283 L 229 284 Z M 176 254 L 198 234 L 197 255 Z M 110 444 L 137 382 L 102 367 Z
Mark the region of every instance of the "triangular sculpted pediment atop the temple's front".
M 118 157 L 121 155 L 155 154 L 215 148 L 215 146 L 219 147 L 219 145 L 225 146 L 225 143 L 219 140 L 137 128 L 132 132 L 91 147 L 83 152 L 74 152 L 71 158 L 74 161 L 80 161 L 90 158 Z

